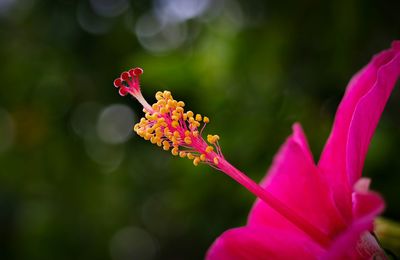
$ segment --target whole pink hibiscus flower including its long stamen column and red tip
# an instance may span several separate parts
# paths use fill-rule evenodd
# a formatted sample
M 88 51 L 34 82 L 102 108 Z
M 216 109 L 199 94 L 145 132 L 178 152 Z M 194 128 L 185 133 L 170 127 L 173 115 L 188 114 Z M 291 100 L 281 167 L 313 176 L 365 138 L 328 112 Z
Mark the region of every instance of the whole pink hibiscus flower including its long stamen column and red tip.
M 350 81 L 318 165 L 295 124 L 261 185 L 225 160 L 218 135 L 203 139 L 208 117 L 185 112 L 185 103 L 169 91 L 157 92 L 157 102 L 149 105 L 140 92 L 142 73 L 131 69 L 114 81 L 122 96 L 132 95 L 143 105 L 145 117 L 135 132 L 195 166 L 204 163 L 224 172 L 258 197 L 247 225 L 223 233 L 207 259 L 385 258 L 371 234 L 384 203 L 369 191 L 361 170 L 400 75 L 400 42 L 376 55 Z

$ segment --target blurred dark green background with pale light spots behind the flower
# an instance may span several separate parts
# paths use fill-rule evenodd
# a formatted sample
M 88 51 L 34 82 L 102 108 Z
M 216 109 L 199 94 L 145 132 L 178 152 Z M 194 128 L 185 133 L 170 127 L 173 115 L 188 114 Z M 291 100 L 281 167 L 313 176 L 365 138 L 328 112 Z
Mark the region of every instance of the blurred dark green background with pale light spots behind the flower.
M 400 38 L 399 11 L 397 0 L 0 0 L 0 258 L 202 259 L 254 197 L 131 132 L 141 108 L 113 80 L 143 67 L 149 102 L 168 89 L 209 116 L 206 133 L 259 181 L 295 121 L 318 159 L 350 77 Z M 395 221 L 399 103 L 397 87 L 364 171 Z

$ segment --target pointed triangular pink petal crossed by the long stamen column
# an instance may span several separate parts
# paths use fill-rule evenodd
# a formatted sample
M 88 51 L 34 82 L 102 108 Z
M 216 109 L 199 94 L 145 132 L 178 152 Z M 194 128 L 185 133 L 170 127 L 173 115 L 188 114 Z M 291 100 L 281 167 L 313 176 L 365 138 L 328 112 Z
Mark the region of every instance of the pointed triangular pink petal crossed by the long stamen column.
M 345 223 L 335 208 L 324 176 L 313 162 L 300 125 L 295 124 L 293 131 L 276 155 L 261 185 L 302 218 L 327 235 L 333 235 L 345 228 Z M 296 229 L 259 199 L 250 212 L 248 223 L 282 230 Z

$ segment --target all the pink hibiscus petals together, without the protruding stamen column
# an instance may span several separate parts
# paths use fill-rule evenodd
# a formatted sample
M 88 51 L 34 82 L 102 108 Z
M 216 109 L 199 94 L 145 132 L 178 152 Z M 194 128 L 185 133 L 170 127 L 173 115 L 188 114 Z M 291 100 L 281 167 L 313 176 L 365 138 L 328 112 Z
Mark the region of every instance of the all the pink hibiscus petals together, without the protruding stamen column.
M 245 227 L 223 233 L 207 254 L 224 259 L 385 259 L 371 235 L 382 198 L 361 178 L 368 145 L 400 75 L 400 42 L 377 54 L 350 81 L 318 165 L 299 124 L 261 186 L 317 227 L 310 236 L 261 199 Z

